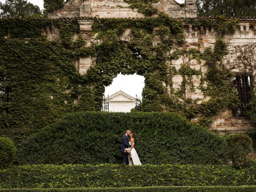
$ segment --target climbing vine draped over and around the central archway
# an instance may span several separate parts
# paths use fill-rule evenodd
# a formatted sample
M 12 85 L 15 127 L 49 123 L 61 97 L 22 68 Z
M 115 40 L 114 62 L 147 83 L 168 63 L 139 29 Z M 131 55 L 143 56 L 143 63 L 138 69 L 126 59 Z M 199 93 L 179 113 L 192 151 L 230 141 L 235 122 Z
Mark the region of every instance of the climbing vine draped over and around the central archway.
M 154 28 L 159 28 L 158 32 L 154 33 Z M 131 36 L 129 41 L 124 41 L 122 34 L 127 29 L 130 29 Z M 162 82 L 166 81 L 168 73 L 167 52 L 173 47 L 174 38 L 178 42 L 184 40 L 181 20 L 167 17 L 97 19 L 92 32 L 98 34 L 95 41 L 100 40 L 101 43 L 92 44 L 91 50 L 80 50 L 85 52 L 84 56 L 96 50 L 98 65 L 86 75 L 93 80 L 104 78 L 102 85 L 98 84 L 102 90 L 119 73 L 143 75 L 146 79 L 142 93 L 143 111 L 162 111 L 164 102 L 161 95 L 166 91 Z M 161 41 L 153 46 L 157 36 Z

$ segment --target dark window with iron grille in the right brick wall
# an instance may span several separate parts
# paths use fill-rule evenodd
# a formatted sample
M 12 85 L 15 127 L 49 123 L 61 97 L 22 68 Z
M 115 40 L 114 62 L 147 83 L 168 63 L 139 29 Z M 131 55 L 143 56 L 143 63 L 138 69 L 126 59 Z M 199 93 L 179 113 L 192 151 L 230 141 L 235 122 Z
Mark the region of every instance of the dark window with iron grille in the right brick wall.
M 250 102 L 252 100 L 251 76 L 248 74 L 236 74 L 232 78 L 232 83 L 237 90 L 240 104 L 232 110 L 234 117 L 247 117 L 251 110 Z

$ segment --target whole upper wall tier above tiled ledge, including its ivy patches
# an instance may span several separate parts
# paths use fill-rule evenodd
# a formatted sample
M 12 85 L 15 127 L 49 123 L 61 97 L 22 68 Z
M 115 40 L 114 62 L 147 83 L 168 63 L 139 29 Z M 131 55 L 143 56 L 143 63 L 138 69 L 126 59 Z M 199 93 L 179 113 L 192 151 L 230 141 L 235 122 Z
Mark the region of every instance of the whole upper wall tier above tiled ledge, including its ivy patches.
M 49 18 L 143 18 L 165 12 L 173 18 L 195 18 L 196 0 L 179 4 L 175 0 L 44 0 Z

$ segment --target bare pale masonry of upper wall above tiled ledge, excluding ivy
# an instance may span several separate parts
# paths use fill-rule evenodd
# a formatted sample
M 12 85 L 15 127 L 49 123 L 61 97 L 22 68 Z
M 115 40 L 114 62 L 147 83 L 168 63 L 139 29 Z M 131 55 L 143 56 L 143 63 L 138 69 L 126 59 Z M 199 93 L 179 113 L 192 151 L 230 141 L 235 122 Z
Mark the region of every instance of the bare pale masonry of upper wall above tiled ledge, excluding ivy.
M 171 17 L 196 17 L 196 1 L 186 0 L 179 4 L 175 0 L 161 0 L 153 4 L 158 10 Z M 122 7 L 122 8 L 121 8 Z M 49 18 L 100 17 L 100 18 L 141 18 L 145 17 L 136 9 L 132 10 L 124 0 L 69 0 L 63 8 L 48 13 Z

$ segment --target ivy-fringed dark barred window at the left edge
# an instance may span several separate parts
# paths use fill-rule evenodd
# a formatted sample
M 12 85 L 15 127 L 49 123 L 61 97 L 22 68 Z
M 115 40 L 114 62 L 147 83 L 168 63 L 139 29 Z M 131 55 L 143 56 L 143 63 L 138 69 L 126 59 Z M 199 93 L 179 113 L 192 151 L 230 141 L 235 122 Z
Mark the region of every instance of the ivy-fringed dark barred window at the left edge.
M 7 102 L 10 102 L 10 87 L 4 86 L 4 81 L 6 78 L 0 79 L 0 114 L 4 111 L 9 113 L 8 106 L 6 105 Z

